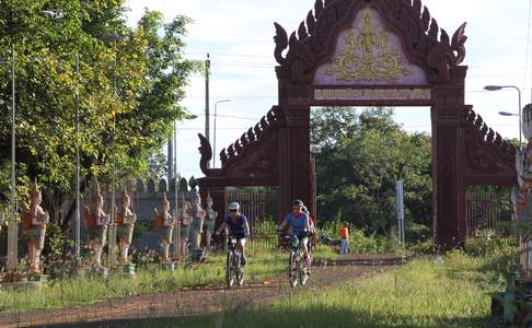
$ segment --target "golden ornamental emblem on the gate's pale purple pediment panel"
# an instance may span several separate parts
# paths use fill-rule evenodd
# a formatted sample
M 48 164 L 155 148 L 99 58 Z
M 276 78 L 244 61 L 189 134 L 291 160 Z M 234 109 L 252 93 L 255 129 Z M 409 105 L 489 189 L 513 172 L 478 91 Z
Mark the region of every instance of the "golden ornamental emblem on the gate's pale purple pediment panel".
M 334 59 L 327 75 L 340 81 L 394 81 L 409 75 L 401 60 L 400 51 L 389 45 L 389 34 L 373 28 L 369 9 L 359 28 L 345 33 L 345 48 Z

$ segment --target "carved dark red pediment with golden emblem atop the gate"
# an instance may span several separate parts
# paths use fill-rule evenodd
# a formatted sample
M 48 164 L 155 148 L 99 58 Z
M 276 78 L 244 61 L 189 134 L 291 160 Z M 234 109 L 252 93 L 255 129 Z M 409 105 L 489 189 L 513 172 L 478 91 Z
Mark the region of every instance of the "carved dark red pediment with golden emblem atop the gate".
M 275 58 L 294 84 L 447 81 L 467 39 L 464 23 L 451 40 L 420 0 L 317 0 L 290 37 L 275 27 Z

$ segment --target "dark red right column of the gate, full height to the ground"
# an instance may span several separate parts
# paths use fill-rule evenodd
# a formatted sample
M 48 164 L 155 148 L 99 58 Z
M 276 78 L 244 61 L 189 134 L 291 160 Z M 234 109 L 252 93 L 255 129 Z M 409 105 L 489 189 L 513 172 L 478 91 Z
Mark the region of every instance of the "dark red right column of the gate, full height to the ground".
M 432 115 L 432 212 L 435 244 L 447 250 L 466 236 L 464 189 L 464 79 L 466 68 L 451 71 L 452 82 L 435 85 Z

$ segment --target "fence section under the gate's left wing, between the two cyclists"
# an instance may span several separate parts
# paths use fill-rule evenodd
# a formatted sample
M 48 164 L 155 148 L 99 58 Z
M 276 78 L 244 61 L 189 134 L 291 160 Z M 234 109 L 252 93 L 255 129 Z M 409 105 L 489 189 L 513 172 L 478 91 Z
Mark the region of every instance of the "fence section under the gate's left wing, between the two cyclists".
M 279 247 L 277 236 L 278 190 L 267 191 L 227 191 L 227 203 L 236 201 L 241 212 L 247 218 L 251 236 L 247 248 L 254 250 L 274 249 Z M 225 204 L 225 213 L 229 213 Z

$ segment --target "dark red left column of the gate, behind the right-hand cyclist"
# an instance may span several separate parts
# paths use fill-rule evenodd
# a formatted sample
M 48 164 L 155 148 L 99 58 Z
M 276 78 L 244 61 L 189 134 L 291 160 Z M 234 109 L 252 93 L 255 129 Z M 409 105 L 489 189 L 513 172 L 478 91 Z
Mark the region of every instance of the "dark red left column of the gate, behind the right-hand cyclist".
M 294 199 L 301 199 L 310 209 L 310 107 L 281 106 L 285 121 L 279 134 L 279 209 L 282 219 Z

